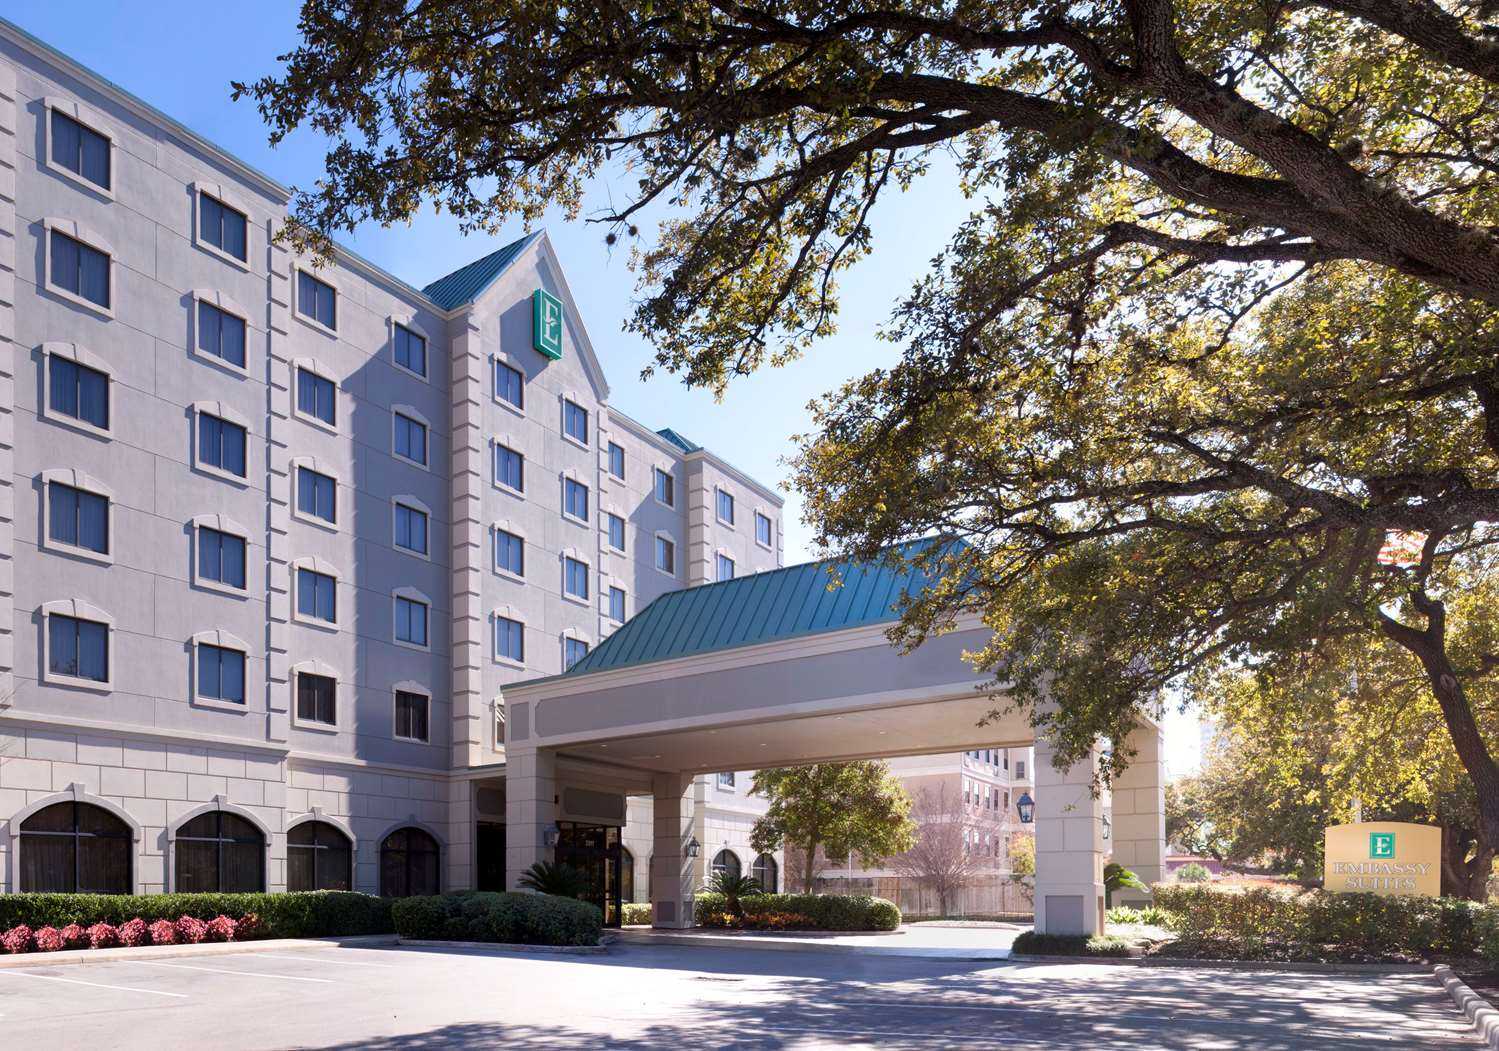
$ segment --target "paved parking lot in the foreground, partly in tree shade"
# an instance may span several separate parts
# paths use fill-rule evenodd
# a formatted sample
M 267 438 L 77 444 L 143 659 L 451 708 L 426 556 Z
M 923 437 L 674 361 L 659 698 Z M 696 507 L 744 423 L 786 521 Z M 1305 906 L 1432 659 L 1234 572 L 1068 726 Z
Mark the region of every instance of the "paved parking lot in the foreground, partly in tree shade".
M 1475 1048 L 1424 976 L 681 946 L 295 949 L 0 970 L 15 1048 Z

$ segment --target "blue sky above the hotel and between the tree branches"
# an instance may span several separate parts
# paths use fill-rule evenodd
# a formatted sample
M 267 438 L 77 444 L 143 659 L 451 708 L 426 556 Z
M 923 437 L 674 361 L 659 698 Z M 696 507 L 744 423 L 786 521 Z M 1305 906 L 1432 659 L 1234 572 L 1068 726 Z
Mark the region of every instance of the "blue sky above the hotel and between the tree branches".
M 273 150 L 255 106 L 229 100 L 231 79 L 274 72 L 276 57 L 295 46 L 298 3 L 255 0 L 244 9 L 255 18 L 237 18 L 232 27 L 214 18 L 211 6 L 184 0 L 9 0 L 4 16 L 273 178 L 310 184 L 322 171 L 322 139 L 298 133 Z M 607 199 L 606 192 L 606 186 L 598 187 L 585 217 Z M 567 223 L 561 216 L 549 216 L 544 225 L 603 358 L 610 402 L 652 427 L 676 427 L 778 486 L 787 499 L 785 558 L 799 562 L 814 555 L 811 532 L 802 525 L 796 495 L 784 484 L 782 460 L 793 451 L 791 435 L 809 427 L 806 402 L 895 360 L 896 349 L 877 340 L 875 331 L 971 207 L 950 178 L 940 177 L 887 198 L 874 216 L 874 255 L 842 282 L 838 333 L 799 361 L 738 379 L 723 402 L 667 375 L 642 382 L 651 348 L 621 327 L 636 286 L 627 250 L 612 253 L 598 225 Z M 451 217 L 426 211 L 409 228 L 369 225 L 340 240 L 420 288 L 522 232 L 517 222 L 495 238 L 465 237 Z M 649 229 L 643 232 L 649 235 Z M 1192 766 L 1195 720 L 1174 718 L 1168 733 L 1172 768 Z

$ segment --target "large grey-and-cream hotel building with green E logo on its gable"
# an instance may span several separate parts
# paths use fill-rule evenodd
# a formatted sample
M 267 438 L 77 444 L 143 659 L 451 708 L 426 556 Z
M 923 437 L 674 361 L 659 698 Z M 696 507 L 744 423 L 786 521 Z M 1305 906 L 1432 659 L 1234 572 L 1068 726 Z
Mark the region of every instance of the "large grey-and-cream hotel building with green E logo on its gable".
M 610 408 L 546 234 L 417 289 L 286 202 L 0 22 L 6 889 L 499 888 L 505 685 L 781 565 L 772 489 Z M 717 849 L 754 805 L 700 792 Z

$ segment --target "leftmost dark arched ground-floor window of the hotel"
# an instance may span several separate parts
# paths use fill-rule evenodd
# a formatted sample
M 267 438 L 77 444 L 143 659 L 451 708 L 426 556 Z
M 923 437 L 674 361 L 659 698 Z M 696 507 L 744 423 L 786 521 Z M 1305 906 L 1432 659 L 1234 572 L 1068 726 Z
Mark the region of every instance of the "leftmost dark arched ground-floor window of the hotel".
M 102 807 L 55 802 L 21 822 L 21 889 L 130 894 L 130 826 Z

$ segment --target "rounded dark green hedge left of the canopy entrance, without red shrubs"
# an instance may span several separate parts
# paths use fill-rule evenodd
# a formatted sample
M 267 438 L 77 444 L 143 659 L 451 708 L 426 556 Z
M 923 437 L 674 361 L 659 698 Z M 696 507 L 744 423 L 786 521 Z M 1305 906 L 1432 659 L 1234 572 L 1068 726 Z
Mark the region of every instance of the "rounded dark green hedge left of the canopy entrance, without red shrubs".
M 508 945 L 598 945 L 598 906 L 552 894 L 459 891 L 397 898 L 391 906 L 403 939 L 502 942 Z

